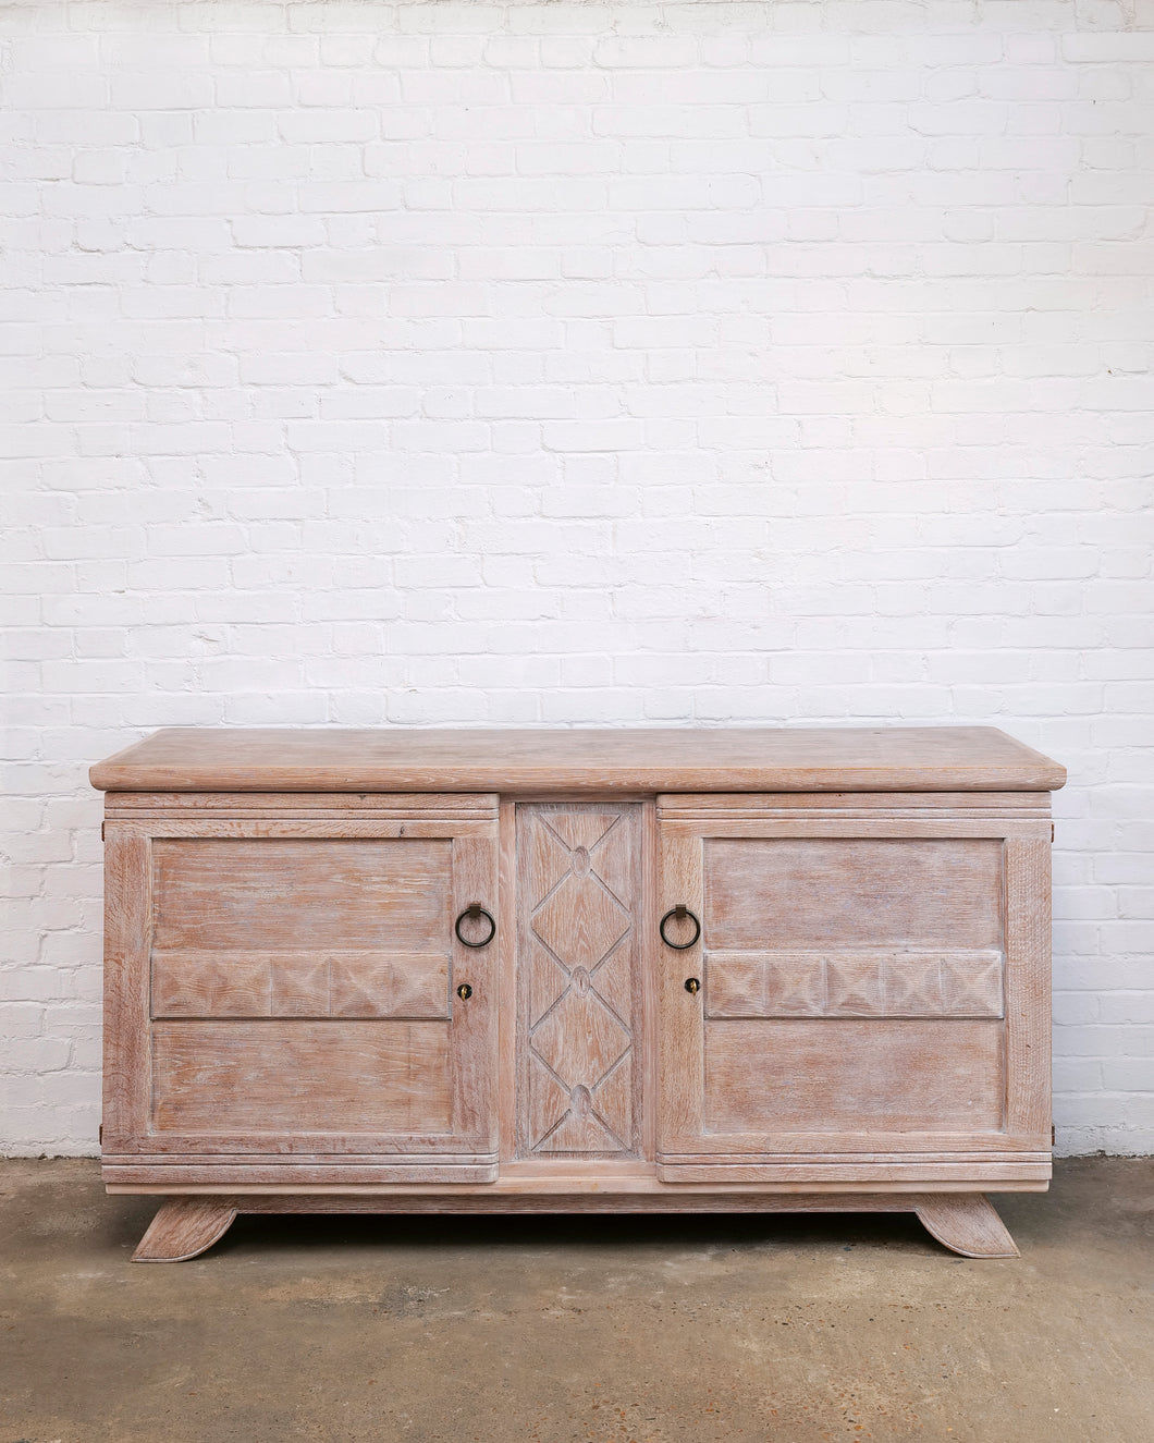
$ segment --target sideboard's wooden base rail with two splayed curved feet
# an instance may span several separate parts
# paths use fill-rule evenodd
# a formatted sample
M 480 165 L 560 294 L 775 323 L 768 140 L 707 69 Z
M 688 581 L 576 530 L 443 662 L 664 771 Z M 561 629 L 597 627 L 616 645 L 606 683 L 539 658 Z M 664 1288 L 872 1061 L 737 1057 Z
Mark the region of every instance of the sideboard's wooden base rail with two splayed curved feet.
M 659 1214 L 913 1212 L 943 1247 L 968 1258 L 1018 1257 L 1014 1240 L 979 1192 L 945 1193 L 242 1193 L 169 1198 L 133 1254 L 134 1263 L 185 1263 L 218 1242 L 238 1212 L 251 1214 Z

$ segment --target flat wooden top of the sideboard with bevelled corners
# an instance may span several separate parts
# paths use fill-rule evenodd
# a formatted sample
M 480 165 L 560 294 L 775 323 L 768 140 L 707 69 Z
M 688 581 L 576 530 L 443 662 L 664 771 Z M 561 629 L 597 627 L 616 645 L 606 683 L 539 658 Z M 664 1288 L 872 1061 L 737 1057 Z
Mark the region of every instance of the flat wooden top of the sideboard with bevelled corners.
M 167 727 L 91 769 L 127 792 L 1053 791 L 995 727 Z

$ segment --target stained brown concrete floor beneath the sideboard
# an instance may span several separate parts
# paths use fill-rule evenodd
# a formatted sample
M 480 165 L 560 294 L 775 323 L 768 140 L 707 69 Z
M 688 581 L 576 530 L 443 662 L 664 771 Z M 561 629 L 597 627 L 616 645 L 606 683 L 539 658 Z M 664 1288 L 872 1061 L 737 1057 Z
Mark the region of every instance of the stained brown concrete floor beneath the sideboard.
M 239 1218 L 128 1263 L 153 1205 L 0 1163 L 0 1443 L 1150 1443 L 1154 1159 L 913 1216 Z

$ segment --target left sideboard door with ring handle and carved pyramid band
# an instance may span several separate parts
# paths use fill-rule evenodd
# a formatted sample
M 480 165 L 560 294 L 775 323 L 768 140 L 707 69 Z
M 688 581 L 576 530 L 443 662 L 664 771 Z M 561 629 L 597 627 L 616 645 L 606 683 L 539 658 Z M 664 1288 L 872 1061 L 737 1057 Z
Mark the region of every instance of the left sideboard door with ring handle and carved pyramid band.
M 495 817 L 179 815 L 105 846 L 107 1166 L 495 1176 L 496 947 L 454 929 L 496 912 Z

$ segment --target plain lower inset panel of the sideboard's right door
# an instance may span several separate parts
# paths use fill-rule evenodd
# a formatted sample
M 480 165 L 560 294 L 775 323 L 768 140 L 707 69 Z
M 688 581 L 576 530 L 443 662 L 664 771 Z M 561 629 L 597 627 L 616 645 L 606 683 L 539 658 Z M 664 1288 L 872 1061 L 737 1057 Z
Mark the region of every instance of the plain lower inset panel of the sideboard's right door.
M 998 1022 L 711 1022 L 705 1131 L 995 1133 Z

